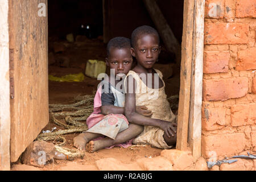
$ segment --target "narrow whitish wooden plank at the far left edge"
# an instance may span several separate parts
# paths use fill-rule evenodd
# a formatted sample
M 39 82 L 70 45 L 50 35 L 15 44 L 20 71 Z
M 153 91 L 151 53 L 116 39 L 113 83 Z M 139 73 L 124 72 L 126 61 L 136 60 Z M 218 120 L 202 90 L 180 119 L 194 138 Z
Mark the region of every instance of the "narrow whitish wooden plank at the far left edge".
M 10 170 L 8 0 L 0 1 L 0 170 Z

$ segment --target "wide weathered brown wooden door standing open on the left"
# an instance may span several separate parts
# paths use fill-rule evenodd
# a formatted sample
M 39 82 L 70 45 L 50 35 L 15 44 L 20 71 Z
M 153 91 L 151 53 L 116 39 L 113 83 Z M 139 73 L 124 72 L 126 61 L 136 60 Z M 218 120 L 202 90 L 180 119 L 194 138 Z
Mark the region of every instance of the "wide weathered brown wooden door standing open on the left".
M 47 0 L 9 0 L 10 49 L 13 50 L 13 97 L 10 158 L 16 162 L 48 123 L 47 16 L 38 7 Z M 47 12 L 46 12 L 47 15 Z

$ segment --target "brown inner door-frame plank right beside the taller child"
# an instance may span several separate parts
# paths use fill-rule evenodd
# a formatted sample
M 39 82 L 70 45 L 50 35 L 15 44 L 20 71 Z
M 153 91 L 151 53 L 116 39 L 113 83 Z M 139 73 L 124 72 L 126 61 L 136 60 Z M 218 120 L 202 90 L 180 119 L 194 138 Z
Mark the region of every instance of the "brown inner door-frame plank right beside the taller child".
M 176 148 L 186 150 L 188 139 L 189 99 L 191 87 L 191 61 L 194 1 L 184 0 L 183 36 L 181 43 L 180 93 L 177 116 Z

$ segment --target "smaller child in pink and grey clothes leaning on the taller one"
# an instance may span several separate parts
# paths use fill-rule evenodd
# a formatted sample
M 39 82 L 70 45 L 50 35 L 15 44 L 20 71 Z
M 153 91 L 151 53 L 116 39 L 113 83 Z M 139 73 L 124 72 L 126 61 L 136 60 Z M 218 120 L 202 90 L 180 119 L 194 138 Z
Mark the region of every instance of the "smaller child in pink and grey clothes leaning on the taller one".
M 129 124 L 123 115 L 125 94 L 122 92 L 122 82 L 133 64 L 130 48 L 130 39 L 117 37 L 109 41 L 106 65 L 114 74 L 110 74 L 110 78 L 105 76 L 98 85 L 94 111 L 86 119 L 89 130 L 73 139 L 75 147 L 89 152 L 115 145 L 128 147 L 131 139 L 143 131 L 142 126 Z M 151 111 L 144 106 L 136 107 L 136 111 L 146 117 L 151 115 Z

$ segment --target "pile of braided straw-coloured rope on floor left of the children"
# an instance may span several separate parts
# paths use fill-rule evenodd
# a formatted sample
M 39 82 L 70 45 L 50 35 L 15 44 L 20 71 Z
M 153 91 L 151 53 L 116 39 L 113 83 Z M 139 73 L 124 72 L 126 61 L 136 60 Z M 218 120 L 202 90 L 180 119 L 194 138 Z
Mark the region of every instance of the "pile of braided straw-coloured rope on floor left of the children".
M 49 115 L 50 119 L 59 126 L 65 128 L 65 130 L 59 130 L 51 133 L 39 134 L 36 140 L 47 141 L 61 140 L 59 144 L 55 144 L 55 150 L 61 154 L 67 155 L 69 159 L 75 157 L 83 157 L 84 152 L 81 150 L 73 150 L 71 148 L 62 147 L 67 143 L 67 140 L 60 135 L 82 132 L 88 130 L 86 123 L 79 121 L 86 121 L 89 115 L 93 112 L 93 100 L 94 95 L 79 96 L 75 98 L 74 104 L 63 105 L 63 104 L 50 104 Z M 72 111 L 71 111 L 72 110 Z M 76 110 L 76 111 L 74 111 Z M 56 117 L 64 117 L 65 123 L 59 121 Z

